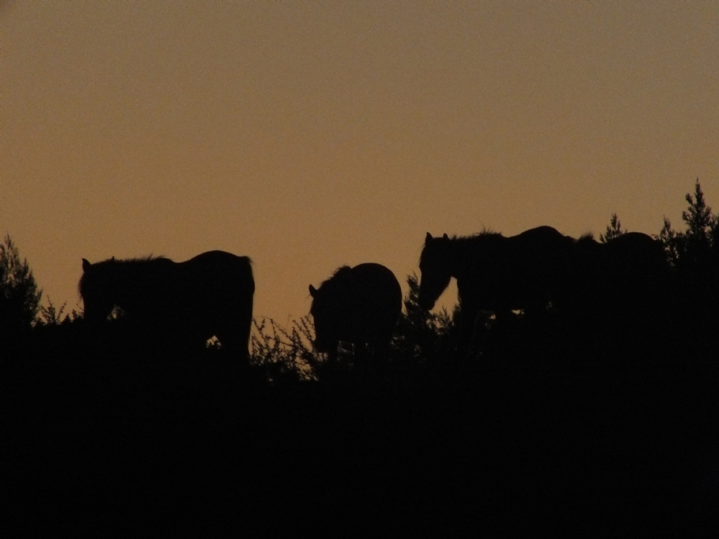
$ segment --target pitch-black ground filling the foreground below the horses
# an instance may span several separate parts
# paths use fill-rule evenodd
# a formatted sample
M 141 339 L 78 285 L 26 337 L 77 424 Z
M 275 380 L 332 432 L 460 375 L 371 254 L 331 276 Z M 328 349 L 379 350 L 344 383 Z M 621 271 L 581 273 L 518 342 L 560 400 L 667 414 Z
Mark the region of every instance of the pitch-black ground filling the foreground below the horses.
M 690 333 L 272 384 L 48 337 L 3 360 L 3 505 L 33 536 L 711 536 L 717 343 Z

